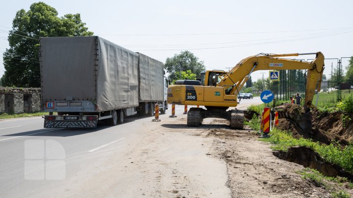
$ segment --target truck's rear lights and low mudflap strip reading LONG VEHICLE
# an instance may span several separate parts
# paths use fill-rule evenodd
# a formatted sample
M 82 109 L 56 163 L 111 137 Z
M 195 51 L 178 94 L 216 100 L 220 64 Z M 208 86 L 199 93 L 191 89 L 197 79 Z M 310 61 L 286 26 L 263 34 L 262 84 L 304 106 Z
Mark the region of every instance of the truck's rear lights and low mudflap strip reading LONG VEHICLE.
M 44 117 L 44 128 L 97 128 L 98 116 L 55 116 Z

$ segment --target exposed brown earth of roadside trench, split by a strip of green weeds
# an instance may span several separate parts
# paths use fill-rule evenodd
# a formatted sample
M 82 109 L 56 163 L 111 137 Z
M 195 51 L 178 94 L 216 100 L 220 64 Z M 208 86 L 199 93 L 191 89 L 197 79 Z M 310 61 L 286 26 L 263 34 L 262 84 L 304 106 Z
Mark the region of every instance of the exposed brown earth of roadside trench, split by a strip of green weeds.
M 295 138 L 310 138 L 323 144 L 330 144 L 332 140 L 342 146 L 353 140 L 353 115 L 341 112 L 319 112 L 313 110 L 304 112 L 302 107 L 284 104 L 278 110 L 277 128 L 293 132 Z M 342 119 L 342 117 L 346 119 Z M 351 118 L 351 119 L 347 119 Z M 275 151 L 275 156 L 280 159 L 295 162 L 320 171 L 326 176 L 343 176 L 353 181 L 353 175 L 346 172 L 336 164 L 325 161 L 319 154 L 307 147 L 292 147 L 288 152 Z

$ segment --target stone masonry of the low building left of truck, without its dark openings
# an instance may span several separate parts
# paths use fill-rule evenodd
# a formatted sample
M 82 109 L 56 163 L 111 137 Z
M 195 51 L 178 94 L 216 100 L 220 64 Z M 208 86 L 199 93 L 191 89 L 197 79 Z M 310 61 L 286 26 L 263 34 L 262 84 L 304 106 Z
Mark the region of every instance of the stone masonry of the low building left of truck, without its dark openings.
M 40 88 L 0 87 L 0 113 L 5 111 L 5 94 L 14 95 L 14 113 L 24 112 L 24 94 L 31 95 L 31 111 L 40 111 Z

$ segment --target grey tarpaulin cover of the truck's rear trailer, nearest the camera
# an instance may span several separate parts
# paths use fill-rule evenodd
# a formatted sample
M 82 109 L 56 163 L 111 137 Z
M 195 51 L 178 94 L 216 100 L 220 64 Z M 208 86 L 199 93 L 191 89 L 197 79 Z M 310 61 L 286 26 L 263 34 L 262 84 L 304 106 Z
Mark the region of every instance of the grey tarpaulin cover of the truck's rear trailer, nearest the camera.
M 100 110 L 137 106 L 139 55 L 100 37 L 40 38 L 42 101 L 89 100 Z

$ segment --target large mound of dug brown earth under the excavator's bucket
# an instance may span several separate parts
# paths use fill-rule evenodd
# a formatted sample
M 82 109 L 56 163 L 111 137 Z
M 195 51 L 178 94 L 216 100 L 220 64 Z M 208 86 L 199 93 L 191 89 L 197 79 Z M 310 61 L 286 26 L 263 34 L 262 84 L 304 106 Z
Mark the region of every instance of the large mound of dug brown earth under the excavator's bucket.
M 302 107 L 284 104 L 279 112 L 278 128 L 293 132 L 296 138 L 330 144 L 332 140 L 347 145 L 353 139 L 353 115 L 342 112 L 305 112 Z

